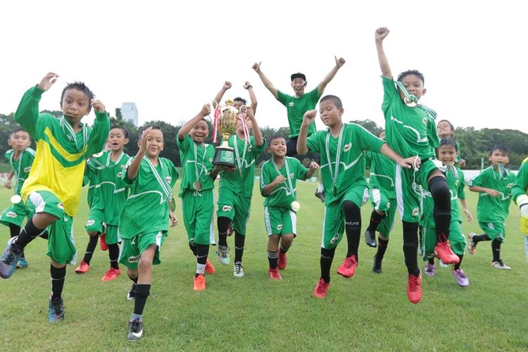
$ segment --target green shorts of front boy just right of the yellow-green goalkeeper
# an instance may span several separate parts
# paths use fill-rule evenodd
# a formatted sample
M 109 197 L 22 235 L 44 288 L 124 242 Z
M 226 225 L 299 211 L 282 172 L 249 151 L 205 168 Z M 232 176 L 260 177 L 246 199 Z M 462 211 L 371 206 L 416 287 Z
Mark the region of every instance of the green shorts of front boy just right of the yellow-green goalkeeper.
M 156 244 L 158 249 L 156 249 L 156 254 L 152 260 L 153 265 L 158 265 L 161 263 L 160 252 L 161 246 L 167 237 L 167 232 L 158 231 L 158 232 L 146 232 L 145 234 L 138 234 L 132 239 L 123 239 L 122 244 L 119 250 L 119 263 L 122 263 L 127 268 L 132 270 L 137 270 L 137 263 L 139 263 L 139 258 L 142 253 L 151 246 L 151 244 Z

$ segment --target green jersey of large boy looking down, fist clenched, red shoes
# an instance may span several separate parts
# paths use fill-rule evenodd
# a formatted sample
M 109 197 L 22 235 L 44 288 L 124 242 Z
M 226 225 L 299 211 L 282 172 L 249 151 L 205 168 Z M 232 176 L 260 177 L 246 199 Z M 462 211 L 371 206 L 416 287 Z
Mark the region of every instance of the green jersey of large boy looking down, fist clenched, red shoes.
M 329 130 L 318 131 L 308 137 L 306 143 L 310 151 L 321 153 L 325 203 L 330 204 L 340 201 L 353 186 L 367 186 L 363 151 L 379 153 L 385 142 L 360 125 L 348 123 L 343 125 L 339 137 L 333 137 Z

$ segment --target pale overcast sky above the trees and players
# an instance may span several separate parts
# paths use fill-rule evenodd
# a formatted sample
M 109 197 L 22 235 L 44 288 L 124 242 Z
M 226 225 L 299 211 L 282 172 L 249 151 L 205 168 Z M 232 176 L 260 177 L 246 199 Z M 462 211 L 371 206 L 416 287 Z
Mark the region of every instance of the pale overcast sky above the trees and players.
M 344 120 L 384 125 L 374 32 L 394 75 L 425 75 L 422 101 L 457 127 L 528 132 L 526 22 L 521 1 L 1 1 L 0 113 L 15 111 L 26 89 L 49 71 L 61 75 L 40 109 L 59 110 L 65 82 L 82 80 L 115 115 L 133 101 L 139 123 L 189 120 L 225 80 L 225 98 L 258 98 L 260 125 L 287 125 L 251 69 L 292 94 L 301 71 L 313 89 L 346 64 L 325 94 L 344 103 Z M 308 92 L 307 90 L 307 92 Z M 93 117 L 87 119 L 87 122 Z M 318 128 L 322 128 L 318 120 Z

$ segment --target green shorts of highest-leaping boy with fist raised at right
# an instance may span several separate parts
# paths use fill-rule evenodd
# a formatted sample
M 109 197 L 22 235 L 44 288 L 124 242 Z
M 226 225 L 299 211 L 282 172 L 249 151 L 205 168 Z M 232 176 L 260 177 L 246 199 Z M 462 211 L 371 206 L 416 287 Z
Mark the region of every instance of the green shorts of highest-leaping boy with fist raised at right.
M 423 161 L 417 171 L 396 165 L 396 201 L 398 210 L 400 210 L 401 220 L 407 222 L 418 222 L 420 220 L 422 212 L 420 200 L 425 191 L 427 191 L 429 175 L 434 170 L 439 170 L 435 162 L 439 163 L 436 159 Z

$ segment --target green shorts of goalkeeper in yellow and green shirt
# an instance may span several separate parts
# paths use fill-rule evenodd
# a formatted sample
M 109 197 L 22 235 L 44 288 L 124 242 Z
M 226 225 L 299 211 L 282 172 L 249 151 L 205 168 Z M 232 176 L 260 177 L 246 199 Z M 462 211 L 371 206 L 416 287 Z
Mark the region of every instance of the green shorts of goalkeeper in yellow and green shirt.
M 48 251 L 46 256 L 59 264 L 77 262 L 77 249 L 73 239 L 73 218 L 64 212 L 60 199 L 51 191 L 32 191 L 25 203 L 27 218 L 34 214 L 48 213 L 58 220 L 48 226 Z

